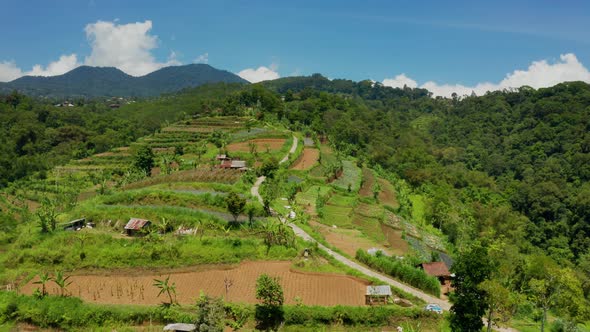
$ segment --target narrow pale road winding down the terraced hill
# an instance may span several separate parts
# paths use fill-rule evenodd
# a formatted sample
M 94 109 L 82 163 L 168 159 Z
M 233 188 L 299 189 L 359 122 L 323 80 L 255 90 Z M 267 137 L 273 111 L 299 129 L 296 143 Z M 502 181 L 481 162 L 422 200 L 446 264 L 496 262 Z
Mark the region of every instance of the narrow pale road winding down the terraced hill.
M 298 144 L 297 137 L 293 136 L 293 145 L 291 146 L 291 149 L 289 150 L 289 154 L 287 154 L 279 163 L 282 164 L 282 163 L 286 162 L 287 160 L 289 160 L 289 155 L 295 153 L 295 150 L 297 150 L 297 144 Z M 258 192 L 258 189 L 260 188 L 260 185 L 262 184 L 262 182 L 264 182 L 264 180 L 266 180 L 265 176 L 258 177 L 256 179 L 256 182 L 252 186 L 252 189 L 250 190 L 250 193 L 252 194 L 252 196 L 256 197 L 258 199 L 258 201 L 260 202 L 260 204 L 263 204 L 263 205 L 264 205 L 264 203 L 263 203 L 262 197 L 260 196 L 260 194 Z M 281 218 L 281 220 L 283 222 L 286 222 L 286 220 L 283 218 Z M 397 280 L 394 280 L 394 279 L 387 277 L 383 274 L 380 274 L 380 273 L 377 273 L 371 269 L 368 269 L 368 268 L 358 264 L 357 262 L 354 262 L 354 261 L 340 255 L 339 253 L 335 252 L 334 250 L 324 246 L 323 244 L 319 243 L 313 237 L 311 237 L 311 235 L 307 234 L 307 232 L 305 232 L 303 229 L 299 228 L 299 226 L 295 225 L 294 223 L 288 223 L 287 225 L 293 229 L 293 232 L 295 233 L 295 235 L 304 239 L 305 241 L 308 241 L 311 243 L 317 243 L 317 245 L 320 249 L 327 252 L 328 255 L 332 256 L 334 259 L 336 259 L 340 263 L 342 263 L 352 269 L 355 269 L 355 270 L 357 270 L 369 277 L 372 277 L 372 278 L 381 280 L 385 283 L 388 283 L 390 285 L 393 285 L 394 287 L 399 288 L 399 289 L 403 290 L 404 292 L 410 293 L 410 294 L 414 295 L 415 297 L 426 301 L 427 303 L 436 303 L 443 310 L 449 311 L 451 309 L 451 304 L 449 303 L 449 301 L 436 298 L 436 297 L 426 294 L 423 291 L 418 290 L 414 287 L 410 287 L 410 286 L 403 284 Z M 484 319 L 484 323 L 487 325 L 487 321 L 485 319 Z M 500 332 L 515 332 L 516 331 L 511 328 L 499 328 L 499 327 L 494 327 L 494 330 L 500 331 Z

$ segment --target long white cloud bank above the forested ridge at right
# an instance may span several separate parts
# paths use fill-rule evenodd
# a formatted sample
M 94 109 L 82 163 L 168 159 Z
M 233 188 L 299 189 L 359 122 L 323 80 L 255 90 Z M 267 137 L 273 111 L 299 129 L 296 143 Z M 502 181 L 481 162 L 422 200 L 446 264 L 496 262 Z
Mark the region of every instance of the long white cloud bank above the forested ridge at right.
M 428 89 L 435 96 L 450 97 L 453 93 L 457 93 L 459 96 L 470 95 L 472 92 L 475 92 L 477 95 L 483 95 L 487 91 L 520 88 L 523 85 L 538 89 L 568 81 L 584 81 L 590 83 L 590 71 L 572 53 L 562 54 L 559 60 L 554 63 L 549 63 L 547 60 L 533 61 L 526 70 L 515 70 L 512 73 L 508 73 L 498 83 L 482 82 L 474 86 L 465 86 L 462 84 L 438 84 L 428 81 L 420 85 L 420 87 Z M 416 81 L 401 74 L 394 79 L 384 79 L 383 85 L 401 87 L 403 86 L 400 86 L 402 82 L 416 83 Z M 410 85 L 408 84 L 408 86 Z M 417 86 L 415 84 L 414 87 Z

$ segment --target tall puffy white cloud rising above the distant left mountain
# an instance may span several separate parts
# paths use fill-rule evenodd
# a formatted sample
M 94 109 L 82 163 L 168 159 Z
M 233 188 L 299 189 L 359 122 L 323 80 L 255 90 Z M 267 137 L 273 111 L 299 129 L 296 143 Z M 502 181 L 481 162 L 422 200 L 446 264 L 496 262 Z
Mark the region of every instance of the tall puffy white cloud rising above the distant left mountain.
M 127 74 L 141 76 L 165 66 L 179 65 L 174 53 L 168 61 L 158 62 L 151 51 L 158 37 L 149 34 L 152 21 L 129 24 L 98 21 L 85 28 L 92 52 L 84 63 L 90 66 L 117 67 Z

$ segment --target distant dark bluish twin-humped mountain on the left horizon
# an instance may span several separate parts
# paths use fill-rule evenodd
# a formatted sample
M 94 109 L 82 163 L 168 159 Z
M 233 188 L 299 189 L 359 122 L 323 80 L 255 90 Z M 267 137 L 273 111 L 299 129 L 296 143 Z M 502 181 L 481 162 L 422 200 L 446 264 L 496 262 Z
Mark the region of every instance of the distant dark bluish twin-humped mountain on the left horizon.
M 141 77 L 112 67 L 81 66 L 59 76 L 25 76 L 0 83 L 0 92 L 18 90 L 43 97 L 158 96 L 205 83 L 248 83 L 239 76 L 209 65 L 165 67 Z

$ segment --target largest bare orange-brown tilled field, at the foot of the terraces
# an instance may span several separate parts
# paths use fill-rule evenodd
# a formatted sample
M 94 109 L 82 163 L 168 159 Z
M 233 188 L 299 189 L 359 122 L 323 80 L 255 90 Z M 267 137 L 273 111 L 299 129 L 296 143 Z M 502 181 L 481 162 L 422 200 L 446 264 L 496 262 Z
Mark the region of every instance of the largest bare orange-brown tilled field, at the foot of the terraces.
M 226 301 L 258 303 L 255 298 L 256 278 L 263 273 L 280 278 L 285 302 L 295 304 L 301 298 L 306 305 L 364 305 L 367 282 L 344 275 L 305 273 L 292 271 L 291 262 L 246 262 L 237 267 L 209 266 L 193 271 L 153 273 L 145 271 L 108 272 L 107 275 L 72 276 L 68 293 L 85 301 L 104 304 L 148 304 L 166 301 L 158 297 L 154 279 L 170 276 L 176 284 L 177 300 L 181 304 L 194 304 L 201 291 L 211 296 L 223 296 Z M 107 273 L 107 272 L 105 272 Z M 26 284 L 22 291 L 32 294 L 39 285 L 38 278 Z M 232 286 L 225 291 L 224 280 Z M 48 287 L 51 294 L 59 294 L 57 287 Z

